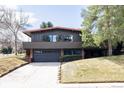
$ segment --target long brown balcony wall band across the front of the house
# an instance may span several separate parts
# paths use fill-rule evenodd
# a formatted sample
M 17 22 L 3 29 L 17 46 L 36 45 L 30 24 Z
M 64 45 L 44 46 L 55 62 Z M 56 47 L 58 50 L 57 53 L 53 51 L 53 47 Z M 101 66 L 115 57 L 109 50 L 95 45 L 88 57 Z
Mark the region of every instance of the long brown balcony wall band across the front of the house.
M 82 48 L 81 42 L 24 42 L 24 49 L 73 49 Z

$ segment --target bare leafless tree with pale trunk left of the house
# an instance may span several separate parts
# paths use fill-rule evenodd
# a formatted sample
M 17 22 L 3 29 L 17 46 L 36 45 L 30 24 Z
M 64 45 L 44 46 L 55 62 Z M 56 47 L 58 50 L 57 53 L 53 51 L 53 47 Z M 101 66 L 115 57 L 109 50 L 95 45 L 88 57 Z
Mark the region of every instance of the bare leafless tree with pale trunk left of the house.
M 0 7 L 0 28 L 13 33 L 15 42 L 15 54 L 17 54 L 18 32 L 24 28 L 28 22 L 28 16 L 22 10 L 16 11 L 3 6 Z

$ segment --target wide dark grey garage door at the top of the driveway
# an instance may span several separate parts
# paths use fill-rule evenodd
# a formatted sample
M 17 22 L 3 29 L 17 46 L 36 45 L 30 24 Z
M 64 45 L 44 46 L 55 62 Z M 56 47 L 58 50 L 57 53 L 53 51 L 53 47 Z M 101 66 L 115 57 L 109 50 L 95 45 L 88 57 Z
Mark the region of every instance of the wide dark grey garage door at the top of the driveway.
M 35 50 L 34 50 L 35 51 Z M 34 52 L 33 59 L 35 62 L 58 62 L 60 53 L 58 50 L 46 50 Z

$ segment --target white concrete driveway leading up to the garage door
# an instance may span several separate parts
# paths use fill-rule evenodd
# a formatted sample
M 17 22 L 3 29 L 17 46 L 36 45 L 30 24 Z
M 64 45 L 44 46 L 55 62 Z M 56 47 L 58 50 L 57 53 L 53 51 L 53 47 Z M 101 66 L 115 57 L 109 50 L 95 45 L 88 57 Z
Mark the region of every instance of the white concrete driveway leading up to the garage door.
M 59 65 L 30 63 L 0 78 L 0 87 L 58 87 Z

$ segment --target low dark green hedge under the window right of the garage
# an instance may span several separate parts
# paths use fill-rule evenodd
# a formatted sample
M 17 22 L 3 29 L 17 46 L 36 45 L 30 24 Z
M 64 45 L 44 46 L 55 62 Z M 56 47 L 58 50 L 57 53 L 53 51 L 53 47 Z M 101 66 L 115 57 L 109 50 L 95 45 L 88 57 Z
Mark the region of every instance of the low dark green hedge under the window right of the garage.
M 81 58 L 82 58 L 81 55 L 64 55 L 64 56 L 60 57 L 60 61 L 68 62 L 68 61 L 79 60 Z

